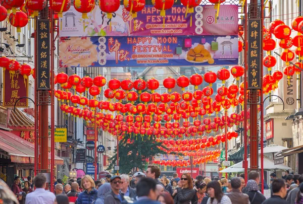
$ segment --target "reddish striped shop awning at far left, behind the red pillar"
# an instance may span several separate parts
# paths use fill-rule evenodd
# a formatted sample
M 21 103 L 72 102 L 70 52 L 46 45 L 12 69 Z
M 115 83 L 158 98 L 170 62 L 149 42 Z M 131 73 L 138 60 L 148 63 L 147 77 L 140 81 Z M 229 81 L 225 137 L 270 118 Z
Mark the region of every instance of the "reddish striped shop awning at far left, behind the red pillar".
M 0 130 L 0 149 L 8 152 L 12 162 L 34 163 L 34 145 L 9 131 Z M 51 153 L 48 153 L 48 159 L 51 159 Z M 55 164 L 64 164 L 64 160 L 55 156 Z

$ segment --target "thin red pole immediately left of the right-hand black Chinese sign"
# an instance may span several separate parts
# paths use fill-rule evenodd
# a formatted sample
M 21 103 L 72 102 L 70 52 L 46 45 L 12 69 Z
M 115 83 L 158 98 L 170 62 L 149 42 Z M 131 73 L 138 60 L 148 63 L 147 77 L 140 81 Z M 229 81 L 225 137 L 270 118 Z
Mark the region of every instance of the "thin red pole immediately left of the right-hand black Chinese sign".
M 247 1 L 244 3 L 244 30 L 247 31 Z M 244 179 L 247 183 L 247 32 L 244 32 Z

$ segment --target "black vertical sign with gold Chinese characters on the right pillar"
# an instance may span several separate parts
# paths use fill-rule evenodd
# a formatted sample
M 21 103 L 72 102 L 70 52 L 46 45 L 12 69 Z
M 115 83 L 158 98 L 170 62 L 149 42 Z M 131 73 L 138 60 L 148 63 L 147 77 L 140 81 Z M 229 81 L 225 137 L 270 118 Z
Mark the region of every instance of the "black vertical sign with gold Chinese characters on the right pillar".
M 248 20 L 248 89 L 261 89 L 261 37 L 260 19 Z

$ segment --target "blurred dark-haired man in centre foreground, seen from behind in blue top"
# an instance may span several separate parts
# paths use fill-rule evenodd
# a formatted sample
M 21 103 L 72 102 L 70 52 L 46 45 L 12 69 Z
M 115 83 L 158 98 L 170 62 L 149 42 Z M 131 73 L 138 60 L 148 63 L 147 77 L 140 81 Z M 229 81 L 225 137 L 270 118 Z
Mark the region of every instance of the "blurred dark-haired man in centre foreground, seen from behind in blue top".
M 160 204 L 156 201 L 156 181 L 153 178 L 141 178 L 137 183 L 137 201 L 135 204 Z

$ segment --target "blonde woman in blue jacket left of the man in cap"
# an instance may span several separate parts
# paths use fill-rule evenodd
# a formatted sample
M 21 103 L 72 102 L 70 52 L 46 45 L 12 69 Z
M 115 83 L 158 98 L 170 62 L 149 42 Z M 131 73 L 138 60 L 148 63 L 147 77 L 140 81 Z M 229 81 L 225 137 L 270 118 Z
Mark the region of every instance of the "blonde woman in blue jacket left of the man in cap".
M 98 191 L 95 189 L 93 179 L 89 175 L 85 175 L 81 180 L 83 192 L 80 193 L 77 204 L 91 204 L 97 198 Z

